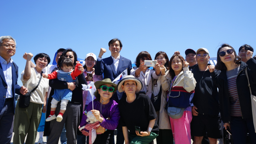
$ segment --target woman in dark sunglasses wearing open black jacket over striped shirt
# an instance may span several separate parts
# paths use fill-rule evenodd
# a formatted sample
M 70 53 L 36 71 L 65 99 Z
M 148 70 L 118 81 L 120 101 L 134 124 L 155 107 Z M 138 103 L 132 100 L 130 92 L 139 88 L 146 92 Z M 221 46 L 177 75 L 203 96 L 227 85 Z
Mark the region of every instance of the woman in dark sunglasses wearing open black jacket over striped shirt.
M 234 144 L 245 144 L 247 132 L 250 134 L 251 144 L 256 144 L 250 89 L 246 77 L 247 71 L 250 84 L 256 81 L 256 60 L 252 58 L 252 54 L 250 50 L 247 51 L 248 61 L 244 63 L 232 46 L 222 44 L 218 49 L 215 66 L 217 70 L 221 70 L 220 74 L 214 72 L 214 66 L 209 66 L 212 79 L 218 86 L 221 119 L 224 127 L 230 128 Z

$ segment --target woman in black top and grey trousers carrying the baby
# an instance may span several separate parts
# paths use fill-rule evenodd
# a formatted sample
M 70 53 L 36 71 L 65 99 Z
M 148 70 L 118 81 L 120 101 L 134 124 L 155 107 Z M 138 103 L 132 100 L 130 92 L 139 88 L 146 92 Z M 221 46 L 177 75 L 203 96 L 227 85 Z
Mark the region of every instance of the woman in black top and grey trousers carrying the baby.
M 58 66 L 61 66 L 61 62 L 64 58 L 71 59 L 74 66 L 76 66 L 77 55 L 72 49 L 68 48 L 62 53 L 58 60 Z M 57 69 L 54 69 L 53 71 L 55 70 Z M 83 66 L 78 66 L 78 70 L 80 71 L 80 75 L 76 77 L 75 82 L 65 82 L 58 79 L 49 80 L 49 86 L 52 88 L 48 102 L 49 107 L 51 107 L 52 95 L 54 94 L 55 89 L 70 89 L 72 91 L 72 99 L 66 106 L 66 111 L 62 116 L 62 121 L 57 122 L 56 119 L 51 120 L 50 127 L 44 129 L 46 135 L 49 135 L 47 144 L 58 143 L 64 124 L 66 128 L 67 143 L 76 144 L 76 136 L 77 133 L 80 132 L 78 129 L 81 120 L 80 114 L 83 111 L 82 84 L 87 84 L 86 78 L 83 74 Z M 56 114 L 59 114 L 60 108 L 61 104 L 58 102 L 55 111 Z

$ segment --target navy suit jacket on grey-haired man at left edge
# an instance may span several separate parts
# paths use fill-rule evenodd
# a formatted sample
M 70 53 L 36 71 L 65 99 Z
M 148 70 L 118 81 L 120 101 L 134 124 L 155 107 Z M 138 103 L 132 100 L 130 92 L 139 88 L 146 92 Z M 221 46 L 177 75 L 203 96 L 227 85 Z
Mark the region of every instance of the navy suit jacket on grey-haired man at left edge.
M 14 62 L 12 63 L 12 94 L 13 98 L 15 99 L 15 93 L 20 95 L 20 86 L 18 85 L 18 66 L 17 70 L 14 66 Z M 2 68 L 2 64 L 0 64 L 0 112 L 2 111 L 4 107 L 4 102 L 6 98 L 6 92 L 7 92 L 7 84 L 4 77 L 4 71 Z M 13 99 L 13 105 L 14 105 L 14 113 L 15 113 L 15 100 Z

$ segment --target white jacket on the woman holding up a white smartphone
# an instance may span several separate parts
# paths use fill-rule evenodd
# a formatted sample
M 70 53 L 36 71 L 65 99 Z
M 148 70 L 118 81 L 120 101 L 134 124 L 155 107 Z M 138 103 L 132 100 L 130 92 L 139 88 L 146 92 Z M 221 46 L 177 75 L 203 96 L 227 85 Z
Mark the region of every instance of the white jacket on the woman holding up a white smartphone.
M 133 75 L 135 78 L 138 78 L 141 82 L 142 82 L 142 90 L 143 91 L 143 88 L 144 86 L 147 87 L 147 91 L 146 91 L 146 95 L 151 98 L 151 94 L 152 94 L 152 78 L 153 79 L 158 79 L 160 78 L 161 76 L 161 73 L 159 74 L 159 76 L 156 75 L 156 72 L 154 70 L 150 70 L 149 68 L 147 68 L 146 72 L 145 72 L 145 76 L 144 76 L 144 73 L 141 71 L 139 76 L 136 77 L 135 76 L 135 70 L 137 70 L 138 68 L 137 67 L 134 67 L 132 70 L 131 70 L 131 73 L 130 75 Z M 151 78 L 152 76 L 152 78 Z

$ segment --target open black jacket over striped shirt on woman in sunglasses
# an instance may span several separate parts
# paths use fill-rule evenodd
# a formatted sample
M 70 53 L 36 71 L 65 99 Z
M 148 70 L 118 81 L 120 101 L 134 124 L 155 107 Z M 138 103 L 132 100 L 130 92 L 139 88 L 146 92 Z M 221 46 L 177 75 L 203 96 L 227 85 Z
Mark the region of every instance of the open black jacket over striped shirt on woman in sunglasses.
M 249 68 L 248 68 L 248 66 Z M 248 77 L 250 83 L 256 80 L 256 60 L 251 58 L 246 63 L 242 62 L 240 65 L 242 69 L 236 78 L 236 87 L 238 92 L 238 99 L 240 102 L 240 108 L 242 112 L 242 118 L 252 118 L 252 104 L 250 98 L 250 89 L 248 87 L 248 80 L 246 78 L 245 69 L 247 68 Z M 250 69 L 252 68 L 252 69 Z M 254 74 L 253 74 L 254 73 Z M 230 122 L 230 102 L 228 94 L 228 80 L 226 70 L 223 70 L 219 75 L 215 72 L 211 73 L 214 83 L 219 89 L 219 101 L 220 101 L 220 114 L 224 123 Z M 254 84 L 251 84 L 254 85 Z M 255 94 L 255 85 L 254 94 Z

